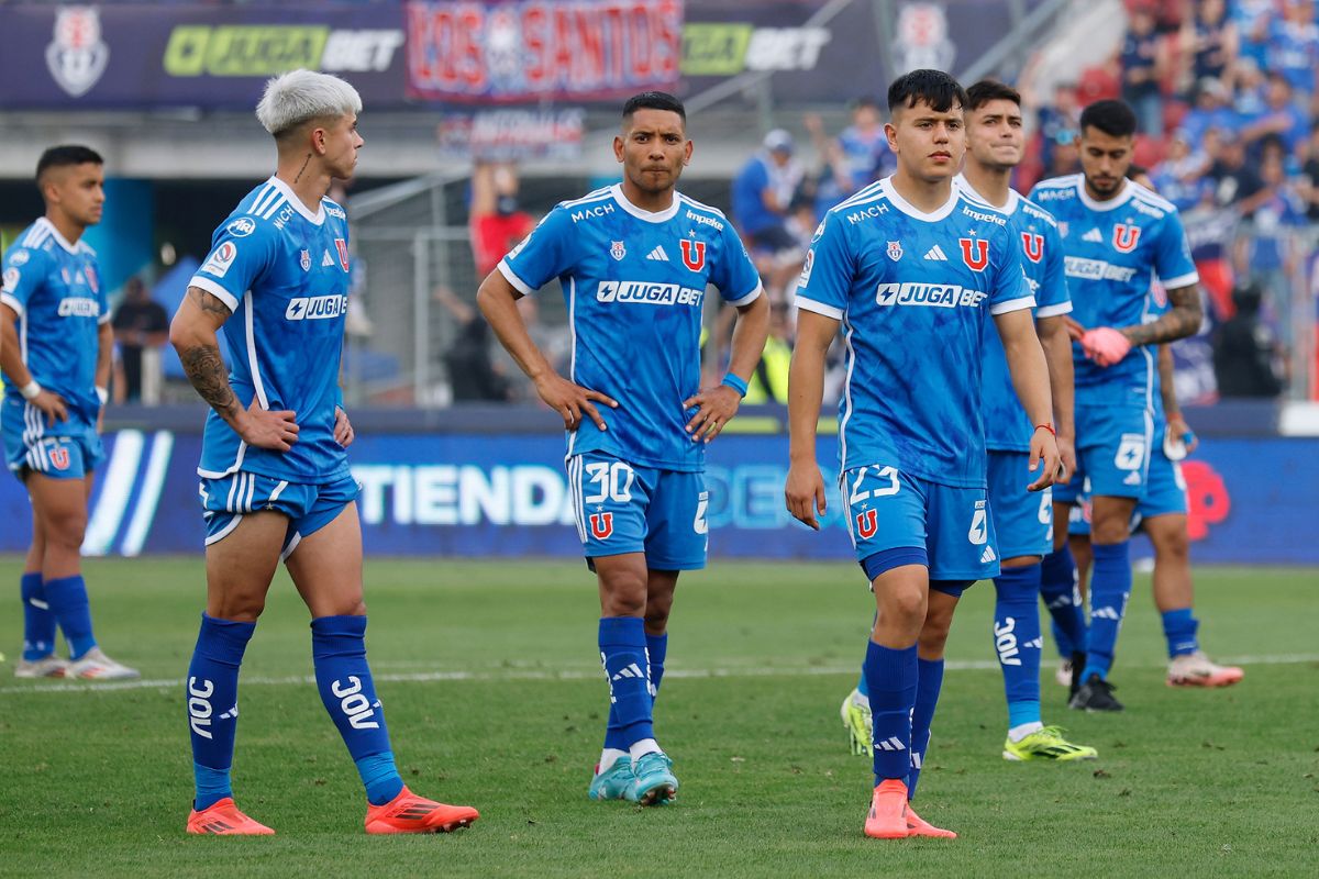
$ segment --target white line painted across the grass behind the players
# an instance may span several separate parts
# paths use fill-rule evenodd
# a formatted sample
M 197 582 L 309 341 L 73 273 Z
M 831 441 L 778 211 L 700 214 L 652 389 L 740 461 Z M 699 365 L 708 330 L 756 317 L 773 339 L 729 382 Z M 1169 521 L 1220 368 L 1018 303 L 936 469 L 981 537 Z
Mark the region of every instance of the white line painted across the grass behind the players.
M 1319 654 L 1265 654 L 1258 656 L 1223 656 L 1223 663 L 1240 666 L 1297 666 L 1319 663 Z M 809 668 L 776 668 L 773 666 L 744 666 L 723 668 L 673 668 L 665 677 L 823 677 L 828 675 L 855 675 L 860 666 L 813 666 Z M 951 659 L 944 666 L 947 671 L 995 671 L 998 663 L 993 660 Z M 1125 668 L 1163 668 L 1163 664 L 1125 666 Z M 603 672 L 599 668 L 537 671 L 532 668 L 500 668 L 493 671 L 448 671 L 448 672 L 385 672 L 372 675 L 376 683 L 435 683 L 435 681 L 501 681 L 501 680 L 595 680 Z M 243 677 L 243 687 L 286 687 L 291 684 L 315 684 L 311 675 L 288 675 L 284 677 Z M 104 684 L 51 683 L 30 687 L 0 687 L 0 696 L 21 696 L 25 693 L 113 693 L 135 689 L 171 689 L 183 685 L 181 677 L 158 677 L 150 680 L 125 680 Z

